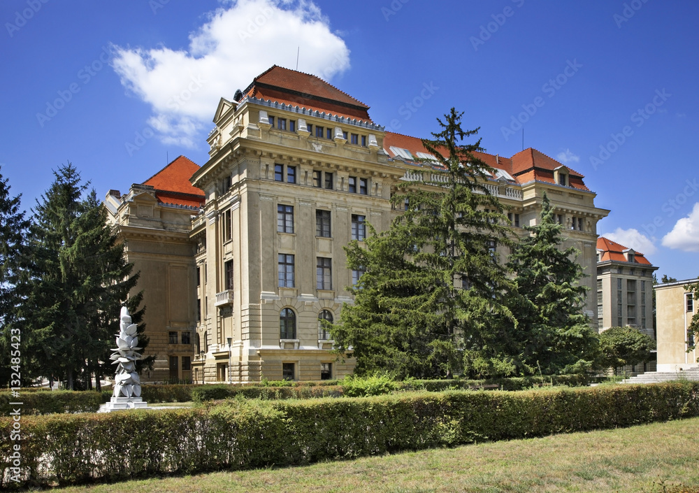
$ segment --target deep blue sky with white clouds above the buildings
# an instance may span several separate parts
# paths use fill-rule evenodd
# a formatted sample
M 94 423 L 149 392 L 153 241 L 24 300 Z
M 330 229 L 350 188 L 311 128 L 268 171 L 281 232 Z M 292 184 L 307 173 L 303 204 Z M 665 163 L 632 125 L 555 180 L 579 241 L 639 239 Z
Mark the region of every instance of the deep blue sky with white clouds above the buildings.
M 219 97 L 273 64 L 412 136 L 452 106 L 488 152 L 586 176 L 598 232 L 699 274 L 699 3 L 3 0 L 1 173 L 29 209 L 72 162 L 100 197 L 208 159 Z

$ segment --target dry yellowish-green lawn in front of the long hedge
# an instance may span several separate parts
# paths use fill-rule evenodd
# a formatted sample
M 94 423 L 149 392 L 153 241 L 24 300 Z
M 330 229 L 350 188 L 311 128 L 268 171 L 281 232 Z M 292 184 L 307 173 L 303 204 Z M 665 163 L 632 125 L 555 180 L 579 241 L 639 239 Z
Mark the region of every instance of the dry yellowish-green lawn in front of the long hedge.
M 56 491 L 699 492 L 699 418 L 303 467 Z

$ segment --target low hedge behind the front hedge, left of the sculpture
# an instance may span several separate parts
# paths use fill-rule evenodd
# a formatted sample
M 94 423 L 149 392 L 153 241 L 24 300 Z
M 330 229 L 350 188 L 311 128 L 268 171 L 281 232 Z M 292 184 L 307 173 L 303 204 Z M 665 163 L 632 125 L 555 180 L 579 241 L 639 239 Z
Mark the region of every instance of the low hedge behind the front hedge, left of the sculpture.
M 13 397 L 10 392 L 0 392 L 0 415 L 7 416 L 10 402 L 22 403 L 22 414 L 50 413 L 94 413 L 103 403 L 100 392 L 74 392 L 71 390 L 54 390 L 53 392 L 20 392 Z

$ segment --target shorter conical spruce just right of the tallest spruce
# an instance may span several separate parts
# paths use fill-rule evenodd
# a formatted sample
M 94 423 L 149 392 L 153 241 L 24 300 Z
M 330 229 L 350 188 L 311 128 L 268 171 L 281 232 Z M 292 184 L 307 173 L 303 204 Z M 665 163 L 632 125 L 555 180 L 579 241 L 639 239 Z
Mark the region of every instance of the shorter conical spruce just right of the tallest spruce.
M 579 284 L 584 275 L 575 262 L 579 252 L 561 250 L 561 224 L 546 193 L 541 207 L 539 224 L 524 227 L 529 236 L 507 263 L 519 292 L 510 301 L 524 346 L 521 361 L 526 373 L 584 371 L 596 360 L 597 338 L 582 313 L 587 288 Z

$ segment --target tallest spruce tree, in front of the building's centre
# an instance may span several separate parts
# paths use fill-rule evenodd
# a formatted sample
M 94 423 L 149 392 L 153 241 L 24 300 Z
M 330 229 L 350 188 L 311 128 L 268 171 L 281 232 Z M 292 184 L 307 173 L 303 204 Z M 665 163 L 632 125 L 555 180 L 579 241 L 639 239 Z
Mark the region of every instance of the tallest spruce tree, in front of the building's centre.
M 491 169 L 473 152 L 478 129 L 461 129 L 452 108 L 442 131 L 422 141 L 419 183 L 407 183 L 392 201 L 405 213 L 362 247 L 350 243 L 347 264 L 363 272 L 331 329 L 336 350 L 352 348 L 356 373 L 389 371 L 399 377 L 444 378 L 515 370 L 512 327 L 505 299 L 512 290 L 495 246 L 509 245 L 503 207 L 485 181 Z

